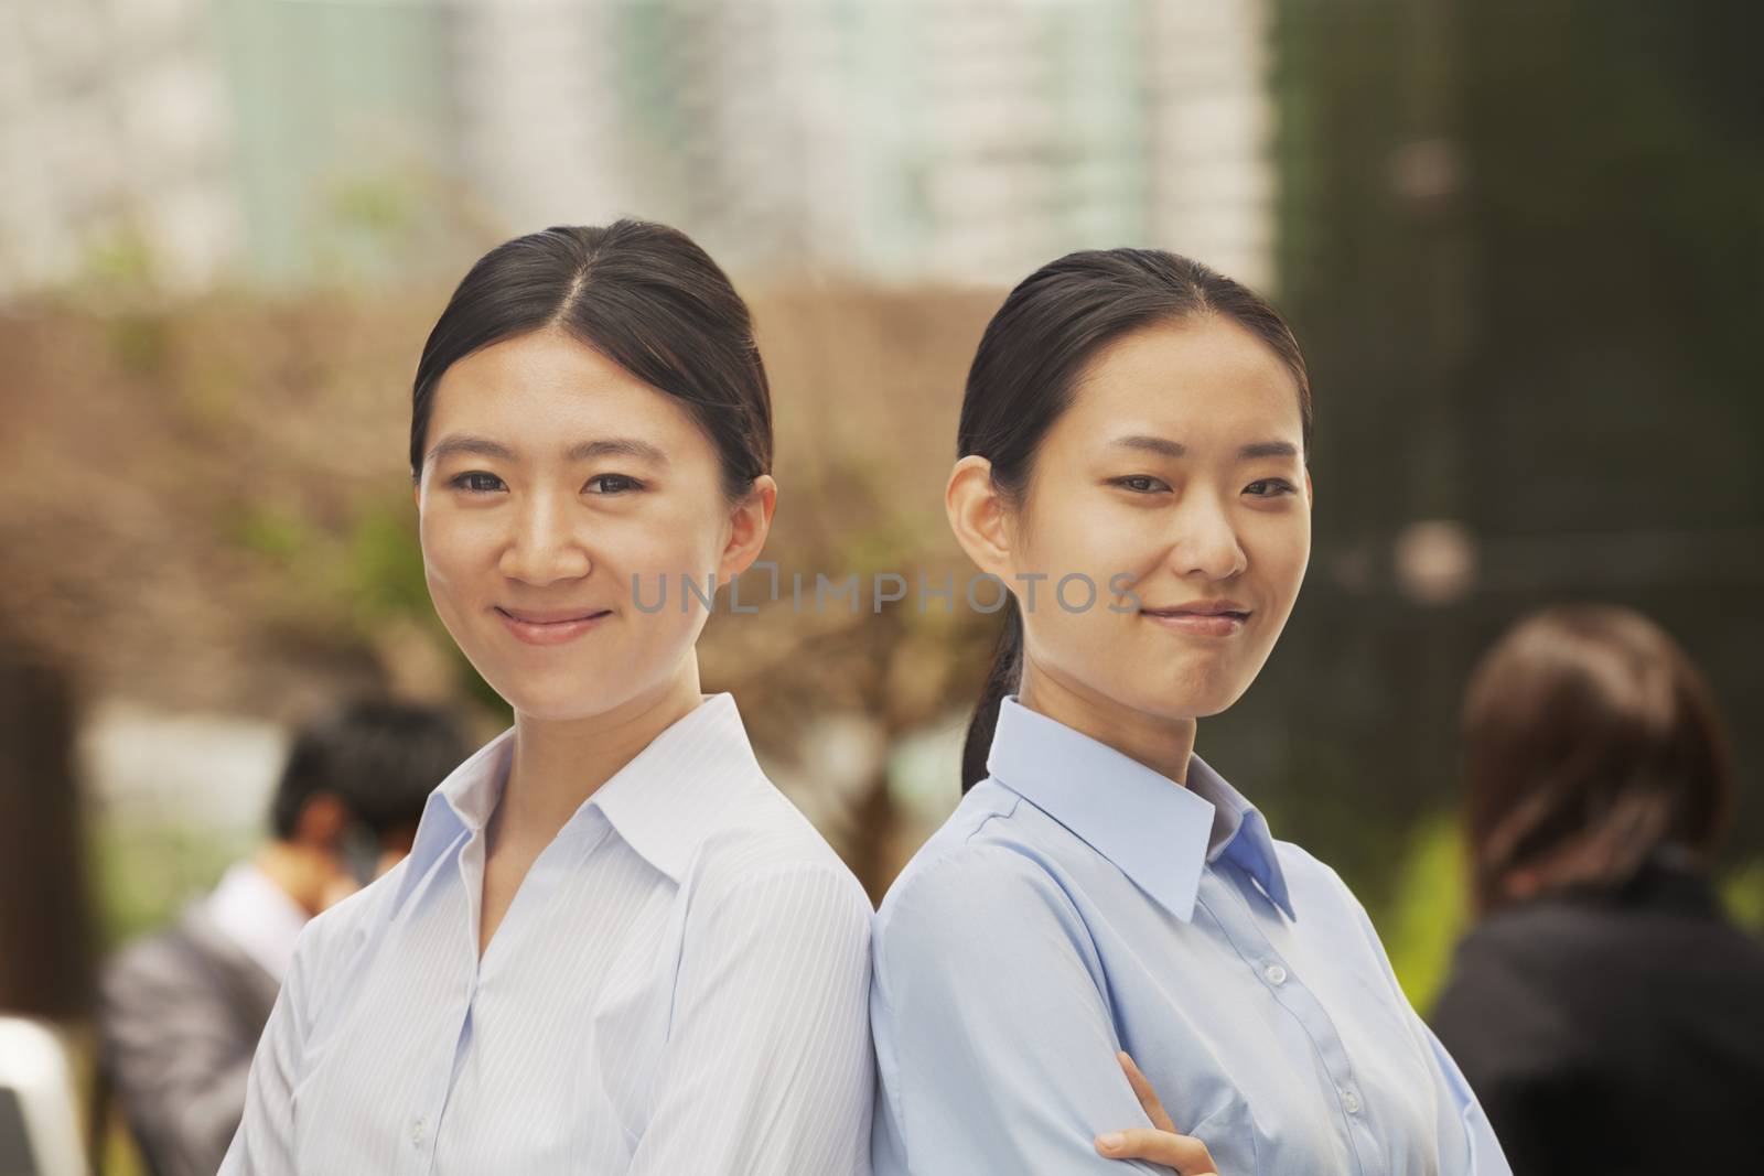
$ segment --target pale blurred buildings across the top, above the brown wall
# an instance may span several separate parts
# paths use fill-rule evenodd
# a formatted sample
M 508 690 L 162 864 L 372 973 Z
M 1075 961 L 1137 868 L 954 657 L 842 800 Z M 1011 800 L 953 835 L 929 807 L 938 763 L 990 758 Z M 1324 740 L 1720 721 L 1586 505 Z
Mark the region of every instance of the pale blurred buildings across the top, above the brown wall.
M 1005 282 L 1157 243 L 1272 279 L 1265 4 L 4 5 L 0 289 L 453 273 L 619 213 L 741 272 Z M 11 60 L 5 60 L 5 58 Z

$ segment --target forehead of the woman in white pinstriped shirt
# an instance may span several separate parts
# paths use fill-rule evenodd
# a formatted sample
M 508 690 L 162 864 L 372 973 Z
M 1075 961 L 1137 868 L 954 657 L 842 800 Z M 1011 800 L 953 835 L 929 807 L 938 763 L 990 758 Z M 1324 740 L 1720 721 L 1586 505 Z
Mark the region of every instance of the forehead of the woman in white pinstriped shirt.
M 697 432 L 684 407 L 587 344 L 561 331 L 517 335 L 482 347 L 436 384 L 429 432 L 452 428 L 543 435 L 561 428 Z

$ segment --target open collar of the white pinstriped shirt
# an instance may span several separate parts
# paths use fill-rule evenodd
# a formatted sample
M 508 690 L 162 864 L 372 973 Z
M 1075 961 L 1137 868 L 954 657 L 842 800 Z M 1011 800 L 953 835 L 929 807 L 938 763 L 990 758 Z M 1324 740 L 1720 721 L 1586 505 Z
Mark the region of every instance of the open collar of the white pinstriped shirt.
M 510 726 L 429 793 L 392 913 L 460 834 L 483 832 L 508 781 L 513 749 Z M 711 695 L 596 788 L 557 836 L 573 836 L 594 827 L 596 816 L 605 818 L 644 860 L 677 883 L 704 839 L 727 823 L 743 785 L 755 778 L 764 772 L 736 696 Z

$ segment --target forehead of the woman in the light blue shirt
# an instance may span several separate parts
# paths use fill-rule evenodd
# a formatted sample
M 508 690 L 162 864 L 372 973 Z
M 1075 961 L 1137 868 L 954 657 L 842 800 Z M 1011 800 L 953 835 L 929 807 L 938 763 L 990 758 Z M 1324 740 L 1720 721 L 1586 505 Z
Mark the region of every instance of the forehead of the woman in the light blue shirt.
M 1291 370 L 1219 316 L 1141 328 L 1104 347 L 1080 374 L 1058 425 L 1067 439 L 1094 444 L 1155 430 L 1191 448 L 1210 439 L 1298 444 L 1304 432 Z

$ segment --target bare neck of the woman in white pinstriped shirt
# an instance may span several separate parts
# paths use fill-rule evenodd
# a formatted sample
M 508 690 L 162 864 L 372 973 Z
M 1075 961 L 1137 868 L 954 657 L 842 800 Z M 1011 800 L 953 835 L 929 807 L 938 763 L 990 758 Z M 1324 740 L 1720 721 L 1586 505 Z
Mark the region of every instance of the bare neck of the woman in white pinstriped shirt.
M 515 751 L 490 818 L 489 848 L 501 841 L 534 850 L 549 845 L 602 785 L 700 702 L 699 659 L 688 652 L 681 672 L 660 689 L 602 714 L 573 719 L 515 714 Z

